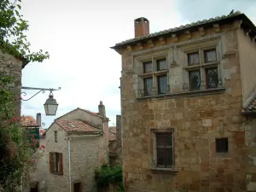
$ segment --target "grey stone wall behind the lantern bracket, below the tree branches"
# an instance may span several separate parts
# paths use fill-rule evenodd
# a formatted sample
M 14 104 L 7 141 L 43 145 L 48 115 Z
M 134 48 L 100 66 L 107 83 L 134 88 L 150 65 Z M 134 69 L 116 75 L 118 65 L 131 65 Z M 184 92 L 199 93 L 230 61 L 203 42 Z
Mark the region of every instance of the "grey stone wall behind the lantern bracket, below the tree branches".
M 21 68 L 22 61 L 16 59 L 13 55 L 3 53 L 0 49 L 0 73 L 4 72 L 15 78 L 13 92 L 15 95 L 20 96 L 21 88 Z M 17 115 L 20 116 L 20 101 L 17 101 Z

